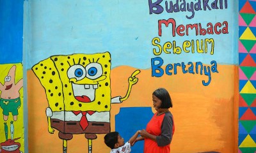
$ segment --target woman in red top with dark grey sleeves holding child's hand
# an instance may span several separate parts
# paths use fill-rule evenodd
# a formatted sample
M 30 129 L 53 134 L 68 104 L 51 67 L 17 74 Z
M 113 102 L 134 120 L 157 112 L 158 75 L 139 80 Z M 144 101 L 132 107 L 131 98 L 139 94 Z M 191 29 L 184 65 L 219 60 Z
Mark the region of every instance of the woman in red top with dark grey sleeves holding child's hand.
M 145 140 L 144 153 L 170 153 L 175 129 L 172 113 L 168 110 L 172 107 L 172 99 L 164 88 L 154 91 L 152 99 L 156 113 L 148 122 L 146 130 L 140 131 L 140 137 L 135 142 Z

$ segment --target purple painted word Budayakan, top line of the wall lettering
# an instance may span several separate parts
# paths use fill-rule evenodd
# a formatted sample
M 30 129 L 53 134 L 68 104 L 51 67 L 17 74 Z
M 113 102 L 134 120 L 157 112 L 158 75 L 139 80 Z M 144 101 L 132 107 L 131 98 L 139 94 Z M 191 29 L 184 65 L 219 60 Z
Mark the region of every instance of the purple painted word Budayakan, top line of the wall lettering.
M 180 1 L 180 3 L 179 3 Z M 190 1 L 190 0 L 189 0 Z M 196 0 L 195 0 L 196 1 Z M 223 3 L 224 1 L 224 3 Z M 227 0 L 213 0 L 212 3 L 209 0 L 197 0 L 196 3 L 193 1 L 186 2 L 186 0 L 176 0 L 175 2 L 172 1 L 165 1 L 164 4 L 161 4 L 163 0 L 157 0 L 156 2 L 152 3 L 152 0 L 148 0 L 149 6 L 149 13 L 160 14 L 163 13 L 165 5 L 165 10 L 167 13 L 175 13 L 179 11 L 189 11 L 192 13 L 191 16 L 186 15 L 186 18 L 191 19 L 195 16 L 195 11 L 207 11 L 207 10 L 223 10 L 223 6 L 225 9 L 228 8 Z

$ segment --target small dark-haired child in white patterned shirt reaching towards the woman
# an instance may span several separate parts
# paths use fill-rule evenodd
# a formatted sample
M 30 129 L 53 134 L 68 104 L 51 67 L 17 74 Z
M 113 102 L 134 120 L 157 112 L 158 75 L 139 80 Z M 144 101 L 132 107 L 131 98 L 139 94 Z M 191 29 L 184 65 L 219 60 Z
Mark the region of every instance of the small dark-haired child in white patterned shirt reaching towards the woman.
M 136 131 L 130 140 L 124 143 L 124 138 L 118 132 L 111 132 L 104 136 L 104 142 L 111 148 L 110 153 L 129 153 L 131 152 L 131 144 L 134 143 L 138 135 L 139 131 Z

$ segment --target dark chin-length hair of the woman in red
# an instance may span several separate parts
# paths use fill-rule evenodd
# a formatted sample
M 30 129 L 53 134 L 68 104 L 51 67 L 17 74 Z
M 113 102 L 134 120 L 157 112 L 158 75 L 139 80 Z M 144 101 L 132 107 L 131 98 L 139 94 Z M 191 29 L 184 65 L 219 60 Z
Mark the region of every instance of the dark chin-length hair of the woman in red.
M 170 108 L 172 107 L 172 99 L 168 91 L 164 88 L 156 89 L 153 92 L 154 96 L 162 101 L 161 108 Z

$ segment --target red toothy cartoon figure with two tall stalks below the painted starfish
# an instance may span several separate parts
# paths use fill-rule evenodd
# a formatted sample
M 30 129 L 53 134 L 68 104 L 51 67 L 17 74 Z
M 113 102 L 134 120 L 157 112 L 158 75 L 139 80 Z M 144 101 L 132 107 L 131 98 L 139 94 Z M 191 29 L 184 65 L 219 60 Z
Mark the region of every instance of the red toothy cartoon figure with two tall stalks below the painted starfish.
M 6 141 L 0 143 L 0 146 L 1 146 L 0 152 L 1 153 L 22 153 L 22 151 L 19 150 L 20 143 L 15 142 L 15 140 L 19 140 L 20 138 L 13 139 L 13 135 L 14 135 L 13 121 L 11 121 L 11 124 L 10 124 L 10 132 L 11 132 L 11 139 L 8 139 L 8 126 L 6 122 L 4 122 L 4 133 L 5 133 Z

